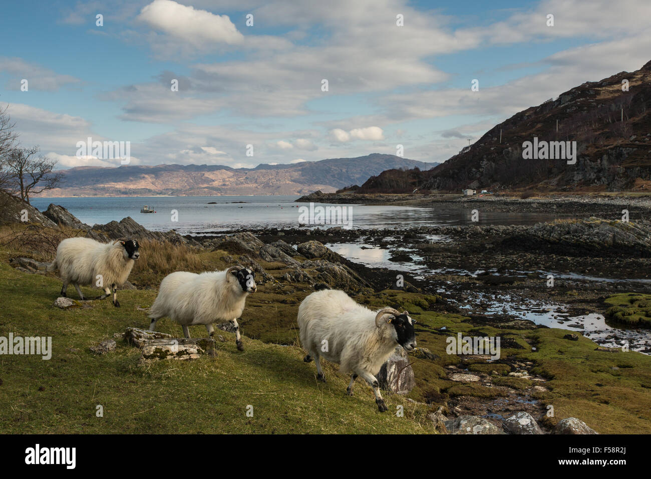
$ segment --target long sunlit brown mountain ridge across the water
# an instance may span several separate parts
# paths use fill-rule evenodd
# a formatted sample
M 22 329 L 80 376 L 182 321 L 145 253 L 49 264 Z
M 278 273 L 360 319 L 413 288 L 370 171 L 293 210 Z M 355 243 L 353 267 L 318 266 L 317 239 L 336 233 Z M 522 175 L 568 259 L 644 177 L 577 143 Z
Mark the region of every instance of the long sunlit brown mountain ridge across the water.
M 433 164 L 373 153 L 298 164 L 232 168 L 207 165 L 76 167 L 63 171 L 61 188 L 41 196 L 293 195 L 334 192 L 361 184 L 391 168 L 428 169 Z

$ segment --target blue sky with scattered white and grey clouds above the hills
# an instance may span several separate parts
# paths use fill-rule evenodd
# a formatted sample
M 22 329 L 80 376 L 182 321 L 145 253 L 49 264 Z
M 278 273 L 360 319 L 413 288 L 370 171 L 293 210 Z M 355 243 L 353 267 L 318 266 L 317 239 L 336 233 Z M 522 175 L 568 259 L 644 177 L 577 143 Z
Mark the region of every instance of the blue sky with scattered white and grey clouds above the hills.
M 649 0 L 47 0 L 5 3 L 3 18 L 0 106 L 61 167 L 119 165 L 77 156 L 87 137 L 130 141 L 136 164 L 396 145 L 442 162 L 521 109 L 651 59 Z

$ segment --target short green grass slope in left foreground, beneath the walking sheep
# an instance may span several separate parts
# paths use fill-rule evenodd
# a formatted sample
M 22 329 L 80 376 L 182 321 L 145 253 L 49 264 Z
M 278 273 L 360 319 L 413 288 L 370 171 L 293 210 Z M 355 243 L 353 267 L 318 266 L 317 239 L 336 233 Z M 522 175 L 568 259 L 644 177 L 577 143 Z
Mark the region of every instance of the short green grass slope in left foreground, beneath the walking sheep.
M 121 308 L 109 300 L 92 308 L 51 306 L 61 284 L 0 264 L 3 312 L 0 335 L 51 336 L 50 360 L 0 356 L 0 431 L 3 433 L 431 433 L 427 408 L 386 394 L 379 413 L 372 390 L 358 381 L 346 396 L 348 377 L 325 365 L 328 383 L 316 381 L 298 347 L 223 333 L 216 358 L 159 361 L 138 366 L 139 351 L 118 340 L 117 351 L 95 356 L 89 347 L 127 327 L 146 327 L 156 291 L 120 291 Z M 91 293 L 84 288 L 85 293 Z M 74 294 L 74 293 L 73 293 Z M 9 299 L 10 300 L 7 300 Z M 178 336 L 180 327 L 161 321 Z M 194 336 L 206 336 L 202 327 Z M 96 406 L 104 417 L 96 417 Z M 247 417 L 247 406 L 253 417 Z M 404 406 L 404 417 L 396 406 Z

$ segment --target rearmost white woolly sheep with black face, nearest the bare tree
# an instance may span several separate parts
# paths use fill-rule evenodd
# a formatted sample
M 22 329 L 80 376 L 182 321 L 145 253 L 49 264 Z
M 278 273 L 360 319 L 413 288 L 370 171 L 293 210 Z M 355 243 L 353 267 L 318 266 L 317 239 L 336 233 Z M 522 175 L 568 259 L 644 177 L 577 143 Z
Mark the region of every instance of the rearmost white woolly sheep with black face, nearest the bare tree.
M 113 291 L 113 306 L 119 308 L 117 288 L 126 282 L 139 259 L 139 248 L 137 240 L 126 238 L 109 243 L 90 238 L 68 238 L 57 246 L 57 255 L 47 270 L 59 270 L 63 282 L 62 297 L 66 297 L 68 283 L 74 285 L 82 300 L 85 298 L 79 285 L 94 285 L 104 288 L 105 293 L 95 299 L 104 299 Z

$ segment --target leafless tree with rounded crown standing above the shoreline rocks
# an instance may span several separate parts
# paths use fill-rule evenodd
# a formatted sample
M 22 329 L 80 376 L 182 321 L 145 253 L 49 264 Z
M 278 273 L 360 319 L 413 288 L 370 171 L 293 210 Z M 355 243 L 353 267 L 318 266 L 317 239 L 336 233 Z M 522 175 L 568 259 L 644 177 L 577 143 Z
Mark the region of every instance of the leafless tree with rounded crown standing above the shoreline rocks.
M 39 151 L 37 146 L 14 148 L 3 160 L 9 175 L 9 192 L 16 196 L 20 194 L 27 204 L 30 195 L 57 188 L 63 178 L 62 173 L 53 171 L 58 162 L 42 155 L 36 158 Z

